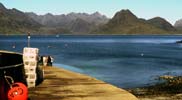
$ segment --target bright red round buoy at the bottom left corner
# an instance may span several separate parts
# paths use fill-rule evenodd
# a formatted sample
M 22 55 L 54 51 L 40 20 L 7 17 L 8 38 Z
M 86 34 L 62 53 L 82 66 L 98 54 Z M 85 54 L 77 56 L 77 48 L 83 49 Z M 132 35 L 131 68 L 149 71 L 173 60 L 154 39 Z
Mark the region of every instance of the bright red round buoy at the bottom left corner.
M 27 100 L 28 89 L 23 83 L 14 83 L 8 91 L 8 100 Z

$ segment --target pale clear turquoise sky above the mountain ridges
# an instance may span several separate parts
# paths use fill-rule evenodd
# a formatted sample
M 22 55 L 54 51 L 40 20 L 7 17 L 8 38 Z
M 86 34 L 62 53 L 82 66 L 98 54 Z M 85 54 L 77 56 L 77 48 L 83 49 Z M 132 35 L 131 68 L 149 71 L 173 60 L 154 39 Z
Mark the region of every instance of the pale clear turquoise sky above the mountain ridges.
M 122 9 L 129 9 L 137 17 L 150 19 L 163 17 L 171 24 L 182 19 L 182 0 L 0 0 L 8 9 L 23 12 L 68 14 L 96 11 L 109 18 Z

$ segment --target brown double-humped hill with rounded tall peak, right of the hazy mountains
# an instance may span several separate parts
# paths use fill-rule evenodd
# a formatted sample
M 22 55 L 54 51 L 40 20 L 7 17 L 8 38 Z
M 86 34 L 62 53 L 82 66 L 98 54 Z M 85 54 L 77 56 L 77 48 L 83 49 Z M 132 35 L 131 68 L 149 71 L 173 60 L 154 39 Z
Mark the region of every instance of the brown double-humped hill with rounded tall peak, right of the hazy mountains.
M 93 33 L 100 34 L 163 34 L 175 32 L 174 27 L 163 18 L 144 20 L 130 10 L 121 10 L 105 25 Z

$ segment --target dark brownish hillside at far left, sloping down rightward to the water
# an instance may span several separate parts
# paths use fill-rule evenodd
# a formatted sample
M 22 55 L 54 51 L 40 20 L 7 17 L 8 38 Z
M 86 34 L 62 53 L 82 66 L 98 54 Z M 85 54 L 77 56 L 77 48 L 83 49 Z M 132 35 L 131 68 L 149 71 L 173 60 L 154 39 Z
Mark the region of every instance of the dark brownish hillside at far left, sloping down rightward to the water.
M 6 9 L 0 3 L 0 34 L 36 32 L 41 24 L 17 9 Z

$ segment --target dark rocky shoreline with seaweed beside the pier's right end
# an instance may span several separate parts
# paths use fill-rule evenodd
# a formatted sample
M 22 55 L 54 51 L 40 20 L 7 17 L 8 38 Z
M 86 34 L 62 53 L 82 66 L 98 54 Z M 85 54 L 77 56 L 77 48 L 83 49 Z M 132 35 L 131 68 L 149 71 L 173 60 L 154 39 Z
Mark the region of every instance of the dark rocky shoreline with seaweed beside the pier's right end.
M 158 80 L 163 82 L 128 91 L 139 100 L 182 100 L 182 76 L 164 75 Z

